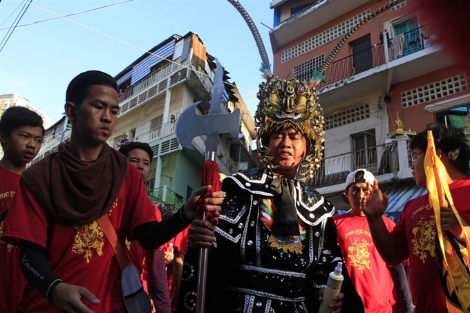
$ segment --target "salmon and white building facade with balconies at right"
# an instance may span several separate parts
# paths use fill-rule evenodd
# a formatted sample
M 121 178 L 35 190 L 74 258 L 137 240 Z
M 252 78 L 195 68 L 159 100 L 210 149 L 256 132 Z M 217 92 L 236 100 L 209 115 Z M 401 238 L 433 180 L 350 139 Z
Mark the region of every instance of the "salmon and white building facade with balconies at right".
M 389 0 L 276 0 L 270 41 L 274 75 L 309 79 L 337 43 Z M 326 117 L 325 153 L 310 184 L 335 202 L 346 175 L 372 171 L 393 196 L 390 215 L 425 191 L 414 187 L 410 138 L 441 122 L 470 134 L 466 73 L 438 44 L 408 0 L 364 23 L 342 46 L 317 87 Z M 406 193 L 408 196 L 403 196 Z M 399 199 L 400 198 L 400 199 Z

